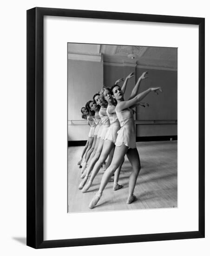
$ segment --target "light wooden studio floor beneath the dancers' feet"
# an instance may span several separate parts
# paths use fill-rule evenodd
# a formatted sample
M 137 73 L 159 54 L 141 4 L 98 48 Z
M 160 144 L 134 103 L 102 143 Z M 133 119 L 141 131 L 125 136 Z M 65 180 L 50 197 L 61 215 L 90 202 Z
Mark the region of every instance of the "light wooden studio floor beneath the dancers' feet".
M 83 147 L 69 147 L 68 212 L 177 207 L 177 141 L 137 142 L 137 147 L 142 166 L 134 190 L 137 201 L 126 204 L 131 173 L 131 164 L 126 157 L 119 177 L 123 188 L 113 191 L 113 182 L 109 182 L 97 207 L 92 210 L 88 205 L 98 191 L 104 171 L 101 168 L 89 191 L 82 193 L 78 189 L 82 179 L 77 162 Z

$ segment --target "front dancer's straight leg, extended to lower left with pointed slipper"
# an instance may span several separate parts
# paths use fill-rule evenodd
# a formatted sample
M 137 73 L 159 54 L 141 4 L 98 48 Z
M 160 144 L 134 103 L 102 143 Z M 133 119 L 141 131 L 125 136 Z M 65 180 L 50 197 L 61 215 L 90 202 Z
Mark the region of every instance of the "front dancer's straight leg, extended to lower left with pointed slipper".
M 105 173 L 102 177 L 100 188 L 96 195 L 94 195 L 92 201 L 89 204 L 89 208 L 92 209 L 96 206 L 99 199 L 101 198 L 101 195 L 105 189 L 105 186 L 109 182 L 110 177 L 112 174 L 116 171 L 116 169 L 120 166 L 120 164 L 123 162 L 124 156 L 128 150 L 128 147 L 125 146 L 125 144 L 122 144 L 121 146 L 116 146 L 114 150 L 114 155 L 112 159 L 112 163 L 110 164 L 109 168 L 105 170 Z

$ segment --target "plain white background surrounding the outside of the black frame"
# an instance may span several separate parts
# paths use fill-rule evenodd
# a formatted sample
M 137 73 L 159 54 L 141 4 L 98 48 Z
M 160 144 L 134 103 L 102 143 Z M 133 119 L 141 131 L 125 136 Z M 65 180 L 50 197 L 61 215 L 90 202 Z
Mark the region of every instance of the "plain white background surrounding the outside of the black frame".
M 171 5 L 166 0 L 121 2 L 107 0 L 31 0 L 4 1 L 1 4 L 1 211 L 0 211 L 0 252 L 2 255 L 34 256 L 50 254 L 73 256 L 127 256 L 137 255 L 208 256 L 210 244 L 210 174 L 206 172 L 206 238 L 182 241 L 163 241 L 132 244 L 98 245 L 61 249 L 31 249 L 26 247 L 26 9 L 57 7 L 89 9 L 100 11 L 153 13 L 165 15 L 206 17 L 206 33 L 210 30 L 210 10 L 208 1 L 177 0 Z M 125 32 L 125 36 L 127 32 Z M 139 34 L 139 37 L 143 36 Z M 206 34 L 206 47 L 210 45 Z M 192 53 L 193 54 L 193 53 Z M 206 50 L 206 71 L 209 70 L 209 47 Z M 13 63 L 13 64 L 12 64 Z M 193 75 L 193 74 L 192 74 Z M 209 84 L 206 72 L 206 85 Z M 206 87 L 210 98 L 210 89 Z M 207 97 L 206 97 L 207 98 Z M 210 130 L 210 103 L 206 101 L 206 131 Z M 206 148 L 210 150 L 210 136 L 206 137 Z M 209 154 L 206 151 L 206 169 L 210 169 Z M 59 175 L 59 173 L 58 173 Z M 190 196 L 190 195 L 189 195 Z M 207 201 L 208 199 L 208 201 Z M 119 223 L 121 224 L 121 223 Z M 114 225 L 117 228 L 117 225 Z M 80 227 L 81 228 L 81 227 Z

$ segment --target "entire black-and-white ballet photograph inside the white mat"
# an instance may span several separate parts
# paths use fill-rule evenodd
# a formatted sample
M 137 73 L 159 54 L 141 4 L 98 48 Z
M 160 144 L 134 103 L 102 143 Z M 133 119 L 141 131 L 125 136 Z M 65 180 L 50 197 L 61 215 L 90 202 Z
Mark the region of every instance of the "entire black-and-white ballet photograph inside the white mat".
M 177 208 L 177 50 L 67 44 L 68 213 Z

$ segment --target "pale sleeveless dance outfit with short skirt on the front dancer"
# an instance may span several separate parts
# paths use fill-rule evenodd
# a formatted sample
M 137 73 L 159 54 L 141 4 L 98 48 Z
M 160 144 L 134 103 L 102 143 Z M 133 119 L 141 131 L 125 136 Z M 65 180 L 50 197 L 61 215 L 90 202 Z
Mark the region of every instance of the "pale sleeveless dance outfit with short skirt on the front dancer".
M 136 148 L 136 129 L 133 111 L 130 108 L 125 108 L 120 112 L 116 109 L 115 111 L 121 126 L 118 130 L 115 145 L 121 146 L 124 143 L 128 148 Z

